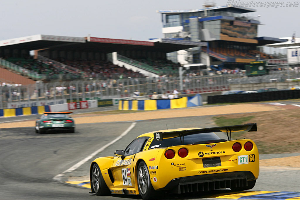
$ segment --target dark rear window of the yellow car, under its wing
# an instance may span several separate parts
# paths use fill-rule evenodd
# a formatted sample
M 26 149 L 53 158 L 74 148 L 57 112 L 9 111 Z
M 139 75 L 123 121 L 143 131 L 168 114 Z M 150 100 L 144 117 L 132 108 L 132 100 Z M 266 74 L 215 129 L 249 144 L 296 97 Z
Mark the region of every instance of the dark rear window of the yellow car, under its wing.
M 164 134 L 164 133 L 163 133 Z M 220 139 L 215 133 L 198 133 L 189 136 L 184 136 L 183 145 L 191 145 L 195 142 L 218 140 Z M 163 141 L 152 141 L 149 145 L 149 149 L 161 148 L 161 147 L 173 147 L 182 145 L 182 137 L 163 139 Z

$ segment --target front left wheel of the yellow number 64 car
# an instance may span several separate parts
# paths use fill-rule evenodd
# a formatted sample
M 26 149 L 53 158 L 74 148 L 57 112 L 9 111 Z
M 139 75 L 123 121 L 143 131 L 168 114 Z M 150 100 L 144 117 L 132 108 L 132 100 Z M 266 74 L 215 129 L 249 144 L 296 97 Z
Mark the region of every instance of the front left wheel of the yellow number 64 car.
M 97 196 L 107 196 L 110 194 L 110 190 L 103 179 L 97 163 L 93 165 L 91 171 L 91 190 L 95 192 Z

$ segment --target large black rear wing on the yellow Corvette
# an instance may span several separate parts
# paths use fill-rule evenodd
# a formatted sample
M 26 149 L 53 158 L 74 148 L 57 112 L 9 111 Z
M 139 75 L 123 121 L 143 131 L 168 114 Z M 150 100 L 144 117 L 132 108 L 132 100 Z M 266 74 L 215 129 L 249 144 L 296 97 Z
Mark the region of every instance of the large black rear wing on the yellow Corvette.
M 162 141 L 163 139 L 175 138 L 175 137 L 184 137 L 198 133 L 212 133 L 212 132 L 223 132 L 227 133 L 228 140 L 231 139 L 231 132 L 240 132 L 240 131 L 257 131 L 256 123 L 250 124 L 241 124 L 234 126 L 223 126 L 223 127 L 212 127 L 212 128 L 199 128 L 192 130 L 179 130 L 172 132 L 156 132 L 154 133 L 154 141 Z M 229 135 L 228 135 L 229 132 Z

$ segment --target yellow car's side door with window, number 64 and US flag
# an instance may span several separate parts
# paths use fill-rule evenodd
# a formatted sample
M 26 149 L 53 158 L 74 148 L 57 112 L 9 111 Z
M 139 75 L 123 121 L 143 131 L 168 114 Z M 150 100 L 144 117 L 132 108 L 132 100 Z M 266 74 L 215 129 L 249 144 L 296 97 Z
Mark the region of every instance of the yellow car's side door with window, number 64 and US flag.
M 121 157 L 117 158 L 113 163 L 113 174 L 117 179 L 114 182 L 115 187 L 134 187 L 134 157 L 135 154 L 142 151 L 149 137 L 139 137 L 132 141 L 130 145 L 125 149 L 122 160 Z

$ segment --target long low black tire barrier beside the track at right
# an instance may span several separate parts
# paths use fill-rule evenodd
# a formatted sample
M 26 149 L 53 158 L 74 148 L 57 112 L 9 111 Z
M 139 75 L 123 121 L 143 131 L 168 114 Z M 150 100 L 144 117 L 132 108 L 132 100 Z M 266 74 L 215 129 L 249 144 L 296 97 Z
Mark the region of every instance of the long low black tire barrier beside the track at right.
M 207 103 L 244 103 L 273 100 L 299 99 L 300 90 L 282 90 L 250 94 L 227 94 L 208 96 Z

